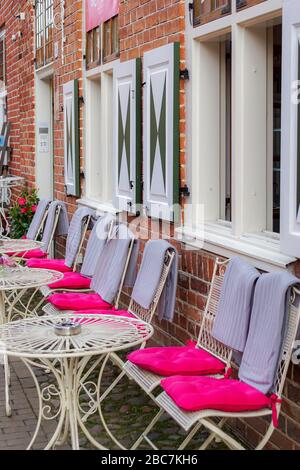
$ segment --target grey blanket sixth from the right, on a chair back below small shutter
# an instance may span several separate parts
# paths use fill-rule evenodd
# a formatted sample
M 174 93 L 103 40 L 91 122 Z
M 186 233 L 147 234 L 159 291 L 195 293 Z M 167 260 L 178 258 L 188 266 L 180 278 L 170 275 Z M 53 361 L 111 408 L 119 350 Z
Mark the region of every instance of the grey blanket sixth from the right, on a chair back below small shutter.
M 89 207 L 79 207 L 72 217 L 66 243 L 65 264 L 71 268 L 74 264 L 82 240 L 84 224 L 88 217 L 95 217 L 95 211 Z

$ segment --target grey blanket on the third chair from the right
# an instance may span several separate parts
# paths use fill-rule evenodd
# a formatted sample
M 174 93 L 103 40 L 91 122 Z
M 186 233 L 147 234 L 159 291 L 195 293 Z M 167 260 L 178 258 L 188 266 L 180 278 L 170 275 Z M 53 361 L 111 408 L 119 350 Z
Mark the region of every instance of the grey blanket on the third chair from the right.
M 172 321 L 174 317 L 178 254 L 176 249 L 165 240 L 150 240 L 144 250 L 142 264 L 132 291 L 132 299 L 145 309 L 151 306 L 159 286 L 167 251 L 173 251 L 175 258 L 166 280 L 158 307 L 160 319 Z

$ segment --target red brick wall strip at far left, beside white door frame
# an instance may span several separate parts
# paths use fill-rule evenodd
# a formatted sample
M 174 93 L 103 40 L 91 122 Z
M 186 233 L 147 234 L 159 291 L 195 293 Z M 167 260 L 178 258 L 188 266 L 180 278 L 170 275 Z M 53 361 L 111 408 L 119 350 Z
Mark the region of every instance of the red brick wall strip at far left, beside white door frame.
M 20 11 L 26 15 L 25 21 L 16 18 Z M 35 179 L 33 14 L 26 0 L 1 2 L 0 27 L 6 31 L 8 120 L 12 124 L 11 169 L 17 176 L 26 175 L 29 186 Z M 17 35 L 15 41 L 13 35 Z

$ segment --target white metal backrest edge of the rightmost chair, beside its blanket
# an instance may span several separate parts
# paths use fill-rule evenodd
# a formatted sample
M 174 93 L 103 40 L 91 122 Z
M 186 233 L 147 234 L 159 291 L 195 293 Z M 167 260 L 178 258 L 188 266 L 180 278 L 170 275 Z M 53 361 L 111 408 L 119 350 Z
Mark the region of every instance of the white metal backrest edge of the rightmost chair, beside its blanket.
M 286 375 L 293 353 L 293 347 L 297 338 L 300 322 L 300 291 L 295 287 L 291 289 L 291 296 L 288 302 L 288 318 L 285 338 L 283 340 L 277 372 L 275 375 L 275 393 L 282 395 Z

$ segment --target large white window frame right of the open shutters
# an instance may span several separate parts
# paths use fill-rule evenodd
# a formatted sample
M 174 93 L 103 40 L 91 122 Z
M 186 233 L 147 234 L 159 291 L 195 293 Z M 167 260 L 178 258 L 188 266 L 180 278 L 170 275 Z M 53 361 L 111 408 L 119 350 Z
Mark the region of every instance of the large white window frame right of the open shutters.
M 250 29 L 254 24 L 263 24 L 266 20 L 281 17 L 282 5 L 283 0 L 268 0 L 237 12 L 233 2 L 231 15 L 196 28 L 189 24 L 187 15 L 186 23 L 187 66 L 192 77 L 186 90 L 187 153 L 192 156 L 188 164 L 188 183 L 192 196 L 188 203 L 204 204 L 205 220 L 193 217 L 184 227 L 178 228 L 177 233 L 188 244 L 204 247 L 224 256 L 238 253 L 246 258 L 254 258 L 256 265 L 263 269 L 284 269 L 295 260 L 280 252 L 278 235 L 266 230 L 268 125 L 263 118 L 267 112 L 267 100 L 262 84 L 267 80 L 264 50 L 267 40 L 263 30 L 259 29 L 251 36 Z M 219 220 L 220 153 L 216 149 L 212 150 L 212 139 L 206 138 L 208 121 L 213 119 L 209 113 L 214 99 L 213 84 L 210 81 L 213 80 L 213 74 L 205 74 L 204 67 L 201 68 L 201 54 L 206 53 L 207 47 L 213 47 L 209 41 L 228 33 L 232 37 L 232 88 L 235 90 L 232 96 L 232 224 Z M 260 48 L 257 48 L 256 41 L 259 41 Z M 260 77 L 258 82 L 256 73 L 262 73 L 263 80 Z M 257 84 L 261 84 L 261 90 L 257 89 Z M 206 85 L 211 93 L 204 93 Z M 248 93 L 244 92 L 245 88 Z M 253 92 L 255 90 L 255 93 L 261 94 L 262 99 L 251 101 L 251 88 Z M 254 116 L 261 119 L 257 140 L 251 136 L 251 126 L 252 134 L 254 130 L 250 113 L 245 113 L 247 107 L 253 107 Z M 257 122 L 255 126 L 258 129 Z M 249 132 L 245 132 L 245 129 L 249 129 Z M 203 152 L 205 139 L 207 146 Z M 212 158 L 207 157 L 208 153 Z M 263 159 L 261 155 L 264 155 Z M 257 165 L 260 168 L 258 177 L 255 169 Z M 189 211 L 191 212 L 201 214 L 201 211 Z M 200 230 L 203 223 L 204 244 L 201 239 L 203 230 Z

